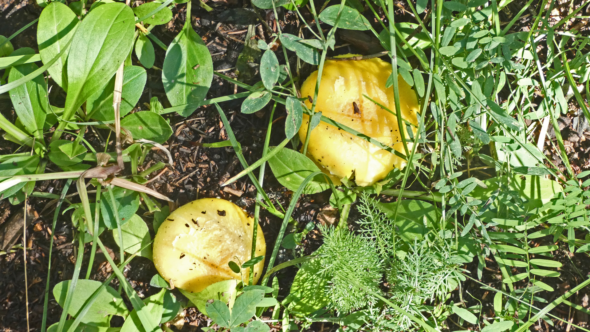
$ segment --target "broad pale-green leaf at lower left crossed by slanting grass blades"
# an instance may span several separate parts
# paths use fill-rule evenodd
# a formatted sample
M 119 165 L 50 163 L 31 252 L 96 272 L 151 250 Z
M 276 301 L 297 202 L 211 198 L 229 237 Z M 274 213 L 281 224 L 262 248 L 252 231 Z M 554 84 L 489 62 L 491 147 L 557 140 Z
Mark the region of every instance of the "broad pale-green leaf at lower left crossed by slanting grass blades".
M 77 317 L 78 312 L 84 307 L 84 302 L 92 295 L 96 289 L 101 286 L 100 281 L 78 279 L 68 314 Z M 65 296 L 70 288 L 70 280 L 65 280 L 55 285 L 53 288 L 53 296 L 55 301 L 61 306 L 64 305 Z M 103 323 L 107 315 L 119 315 L 125 317 L 129 314 L 127 307 L 123 302 L 123 298 L 119 292 L 112 287 L 104 287 L 96 301 L 90 306 L 90 310 L 82 318 L 82 323 Z

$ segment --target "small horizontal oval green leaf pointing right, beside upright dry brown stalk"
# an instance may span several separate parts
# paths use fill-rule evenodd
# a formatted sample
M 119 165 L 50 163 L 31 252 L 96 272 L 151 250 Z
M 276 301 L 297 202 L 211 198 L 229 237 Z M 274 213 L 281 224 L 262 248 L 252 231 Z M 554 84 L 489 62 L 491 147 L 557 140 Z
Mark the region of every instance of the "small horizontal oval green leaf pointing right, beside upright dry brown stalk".
M 161 115 L 145 110 L 127 115 L 121 120 L 122 128 L 133 135 L 133 139 L 149 139 L 163 143 L 172 135 L 172 128 Z

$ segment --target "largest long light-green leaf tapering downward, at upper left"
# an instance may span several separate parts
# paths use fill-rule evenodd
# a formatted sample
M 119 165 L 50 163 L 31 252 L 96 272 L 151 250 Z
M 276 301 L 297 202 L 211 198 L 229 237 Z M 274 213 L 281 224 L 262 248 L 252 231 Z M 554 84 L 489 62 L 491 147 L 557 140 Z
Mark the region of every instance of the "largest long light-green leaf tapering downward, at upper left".
M 131 51 L 134 30 L 133 11 L 118 2 L 98 6 L 82 20 L 68 54 L 66 119 L 109 83 Z

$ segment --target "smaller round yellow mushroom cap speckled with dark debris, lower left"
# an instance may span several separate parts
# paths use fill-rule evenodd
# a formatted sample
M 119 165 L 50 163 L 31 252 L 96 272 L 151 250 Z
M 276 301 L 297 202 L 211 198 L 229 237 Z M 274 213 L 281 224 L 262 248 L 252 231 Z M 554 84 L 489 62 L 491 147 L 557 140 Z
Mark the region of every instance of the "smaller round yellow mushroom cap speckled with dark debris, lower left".
M 202 198 L 173 211 L 160 225 L 153 240 L 153 262 L 166 281 L 189 292 L 228 279 L 242 279 L 228 262 L 241 265 L 250 260 L 254 219 L 240 207 L 219 198 Z M 260 226 L 256 256 L 266 255 Z M 254 284 L 260 278 L 264 260 L 254 265 Z M 242 269 L 244 283 L 250 268 Z

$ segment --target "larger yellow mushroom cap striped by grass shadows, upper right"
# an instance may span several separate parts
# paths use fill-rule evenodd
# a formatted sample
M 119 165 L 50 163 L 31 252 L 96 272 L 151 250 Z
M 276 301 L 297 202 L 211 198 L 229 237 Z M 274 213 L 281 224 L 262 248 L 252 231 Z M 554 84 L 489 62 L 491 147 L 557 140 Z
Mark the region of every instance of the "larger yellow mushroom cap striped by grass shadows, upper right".
M 391 63 L 379 58 L 326 60 L 315 111 L 322 112 L 327 118 L 349 126 L 405 155 L 396 116 L 363 96 L 370 97 L 395 113 L 394 89 L 385 87 L 391 72 Z M 317 71 L 314 71 L 301 86 L 302 97 L 313 98 L 316 80 Z M 418 100 L 414 90 L 401 76 L 398 76 L 398 82 L 402 118 L 414 125 L 411 128 L 415 136 Z M 360 113 L 355 112 L 353 102 L 358 105 Z M 309 100 L 305 103 L 311 109 L 312 103 Z M 299 129 L 301 141 L 305 140 L 308 122 L 309 116 L 304 114 Z M 405 123 L 402 125 L 405 137 L 409 139 L 407 126 Z M 408 143 L 409 149 L 412 149 L 412 143 Z M 394 167 L 402 169 L 407 163 L 403 158 L 325 122 L 320 122 L 313 129 L 307 152 L 313 161 L 337 178 L 350 178 L 354 173 L 356 184 L 361 186 L 372 185 L 384 178 Z

